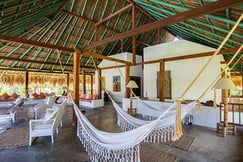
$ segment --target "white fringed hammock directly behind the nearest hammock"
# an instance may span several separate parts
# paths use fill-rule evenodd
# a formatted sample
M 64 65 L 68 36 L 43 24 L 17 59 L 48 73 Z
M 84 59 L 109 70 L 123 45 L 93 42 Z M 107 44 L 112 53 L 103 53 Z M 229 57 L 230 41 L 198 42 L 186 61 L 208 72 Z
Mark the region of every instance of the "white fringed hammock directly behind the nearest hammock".
M 109 93 L 108 93 L 109 94 Z M 110 95 L 109 95 L 110 96 Z M 151 121 L 142 120 L 135 118 L 125 111 L 112 99 L 110 99 L 113 103 L 113 106 L 117 112 L 117 124 L 121 127 L 123 131 L 137 129 L 143 125 L 150 123 Z M 184 105 L 182 107 L 182 115 L 181 119 L 183 119 L 189 112 L 191 112 L 192 108 L 196 106 L 196 102 L 192 102 L 190 104 Z M 157 111 L 157 114 L 165 113 L 166 116 L 161 118 L 158 124 L 154 127 L 153 131 L 144 139 L 144 142 L 167 142 L 167 141 L 175 141 L 175 125 L 176 125 L 176 103 L 170 104 L 170 107 L 167 110 L 153 110 Z M 156 119 L 157 120 L 157 119 Z

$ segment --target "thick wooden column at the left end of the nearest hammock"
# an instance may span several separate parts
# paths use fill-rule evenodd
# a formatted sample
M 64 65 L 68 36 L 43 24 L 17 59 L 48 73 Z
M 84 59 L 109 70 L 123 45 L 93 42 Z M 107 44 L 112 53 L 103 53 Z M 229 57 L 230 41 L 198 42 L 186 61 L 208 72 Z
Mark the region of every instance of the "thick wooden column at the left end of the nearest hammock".
M 73 58 L 73 100 L 79 106 L 79 71 L 80 71 L 80 52 L 75 50 Z M 73 110 L 73 126 L 77 126 L 77 117 Z

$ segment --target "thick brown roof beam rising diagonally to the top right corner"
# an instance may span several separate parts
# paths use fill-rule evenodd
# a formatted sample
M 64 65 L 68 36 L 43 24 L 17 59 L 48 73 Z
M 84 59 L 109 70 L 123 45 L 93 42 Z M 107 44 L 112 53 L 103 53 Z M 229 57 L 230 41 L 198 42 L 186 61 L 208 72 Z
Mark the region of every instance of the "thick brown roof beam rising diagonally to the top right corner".
M 212 2 L 212 3 L 209 3 L 209 4 L 204 5 L 204 6 L 193 8 L 189 11 L 178 13 L 178 14 L 170 16 L 168 18 L 158 20 L 158 21 L 137 27 L 134 30 L 129 30 L 129 31 L 126 31 L 126 32 L 123 32 L 123 33 L 120 33 L 120 34 L 116 34 L 113 37 L 106 38 L 106 39 L 103 39 L 102 41 L 92 43 L 87 47 L 83 47 L 83 48 L 81 48 L 81 50 L 86 51 L 86 50 L 89 50 L 89 49 L 93 49 L 95 47 L 102 46 L 106 43 L 110 43 L 110 42 L 114 42 L 116 40 L 131 37 L 134 34 L 137 35 L 137 34 L 145 33 L 145 32 L 151 31 L 151 30 L 166 27 L 168 25 L 172 25 L 172 24 L 175 24 L 175 23 L 186 21 L 188 19 L 193 19 L 193 18 L 196 18 L 198 16 L 207 15 L 207 14 L 214 13 L 214 12 L 217 12 L 217 11 L 221 11 L 221 10 L 224 10 L 226 8 L 230 8 L 230 7 L 234 7 L 234 6 L 239 6 L 241 4 L 243 4 L 242 0 L 231 0 L 231 1 L 219 0 L 219 1 L 216 1 L 216 2 Z

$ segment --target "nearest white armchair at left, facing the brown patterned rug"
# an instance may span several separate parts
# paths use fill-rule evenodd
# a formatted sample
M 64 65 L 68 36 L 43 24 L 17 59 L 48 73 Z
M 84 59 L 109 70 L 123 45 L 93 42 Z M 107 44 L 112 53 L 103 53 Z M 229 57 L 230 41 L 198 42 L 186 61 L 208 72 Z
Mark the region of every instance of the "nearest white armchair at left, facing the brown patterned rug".
M 31 146 L 32 137 L 51 136 L 51 142 L 54 143 L 54 133 L 58 134 L 58 126 L 62 122 L 64 106 L 66 101 L 52 111 L 51 114 L 45 115 L 45 118 L 29 121 L 29 145 Z

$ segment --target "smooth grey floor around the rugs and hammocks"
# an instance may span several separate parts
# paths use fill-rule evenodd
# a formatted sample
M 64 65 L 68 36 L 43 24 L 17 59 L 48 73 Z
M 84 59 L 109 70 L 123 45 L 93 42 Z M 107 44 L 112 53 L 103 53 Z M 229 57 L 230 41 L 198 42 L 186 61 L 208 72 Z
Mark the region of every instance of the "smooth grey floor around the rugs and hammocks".
M 86 116 L 95 127 L 108 131 L 119 132 L 116 125 L 116 112 L 111 104 L 102 108 L 87 110 Z M 37 138 L 31 147 L 18 147 L 0 150 L 0 161 L 89 161 L 79 139 L 76 137 L 72 123 L 72 109 L 66 108 L 64 126 L 60 128 L 55 143 L 51 144 L 50 137 Z M 17 121 L 17 126 L 28 125 L 25 120 Z M 183 126 L 185 135 L 195 137 L 189 151 L 183 151 L 163 144 L 146 144 L 158 150 L 179 157 L 180 161 L 243 161 L 243 129 L 237 130 L 237 135 L 226 138 L 217 136 L 215 130 L 199 126 Z

